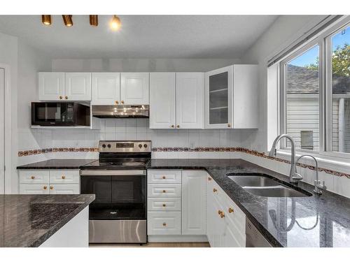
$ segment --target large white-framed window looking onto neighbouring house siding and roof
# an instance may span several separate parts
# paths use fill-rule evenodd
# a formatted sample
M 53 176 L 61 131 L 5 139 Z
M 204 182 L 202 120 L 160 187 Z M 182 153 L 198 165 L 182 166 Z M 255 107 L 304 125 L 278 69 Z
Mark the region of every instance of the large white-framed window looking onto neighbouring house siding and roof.
M 350 17 L 342 21 L 280 62 L 280 127 L 297 150 L 349 158 Z

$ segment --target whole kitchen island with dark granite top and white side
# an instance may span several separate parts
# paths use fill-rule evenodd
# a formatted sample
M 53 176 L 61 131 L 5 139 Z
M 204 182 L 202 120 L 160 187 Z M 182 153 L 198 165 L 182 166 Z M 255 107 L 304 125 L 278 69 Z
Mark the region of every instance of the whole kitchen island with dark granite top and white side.
M 94 195 L 0 195 L 0 247 L 87 247 Z

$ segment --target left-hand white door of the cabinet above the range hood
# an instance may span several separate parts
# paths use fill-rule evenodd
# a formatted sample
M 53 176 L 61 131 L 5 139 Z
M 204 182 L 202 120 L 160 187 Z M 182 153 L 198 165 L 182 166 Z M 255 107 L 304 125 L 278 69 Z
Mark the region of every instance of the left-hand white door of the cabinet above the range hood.
M 120 73 L 92 73 L 92 105 L 120 104 Z

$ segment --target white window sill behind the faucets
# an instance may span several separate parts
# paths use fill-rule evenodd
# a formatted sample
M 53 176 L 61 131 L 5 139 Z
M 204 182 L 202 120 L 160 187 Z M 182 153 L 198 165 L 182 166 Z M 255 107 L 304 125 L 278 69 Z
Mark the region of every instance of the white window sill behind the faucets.
M 331 156 L 315 154 L 314 152 L 295 152 L 296 159 L 303 154 L 311 154 L 311 156 L 315 157 L 318 161 L 319 168 L 330 169 L 340 173 L 350 173 L 349 159 L 339 159 L 339 157 L 335 158 Z M 290 161 L 290 150 L 278 150 L 276 157 Z M 315 166 L 314 160 L 310 158 L 303 158 L 300 160 L 300 163 L 304 163 L 309 166 Z

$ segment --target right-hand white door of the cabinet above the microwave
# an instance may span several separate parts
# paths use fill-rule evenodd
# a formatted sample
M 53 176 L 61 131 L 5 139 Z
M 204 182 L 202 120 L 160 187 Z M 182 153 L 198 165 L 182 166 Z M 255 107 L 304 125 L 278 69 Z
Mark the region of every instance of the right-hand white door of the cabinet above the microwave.
M 65 73 L 64 82 L 64 98 L 66 100 L 91 100 L 91 73 Z

